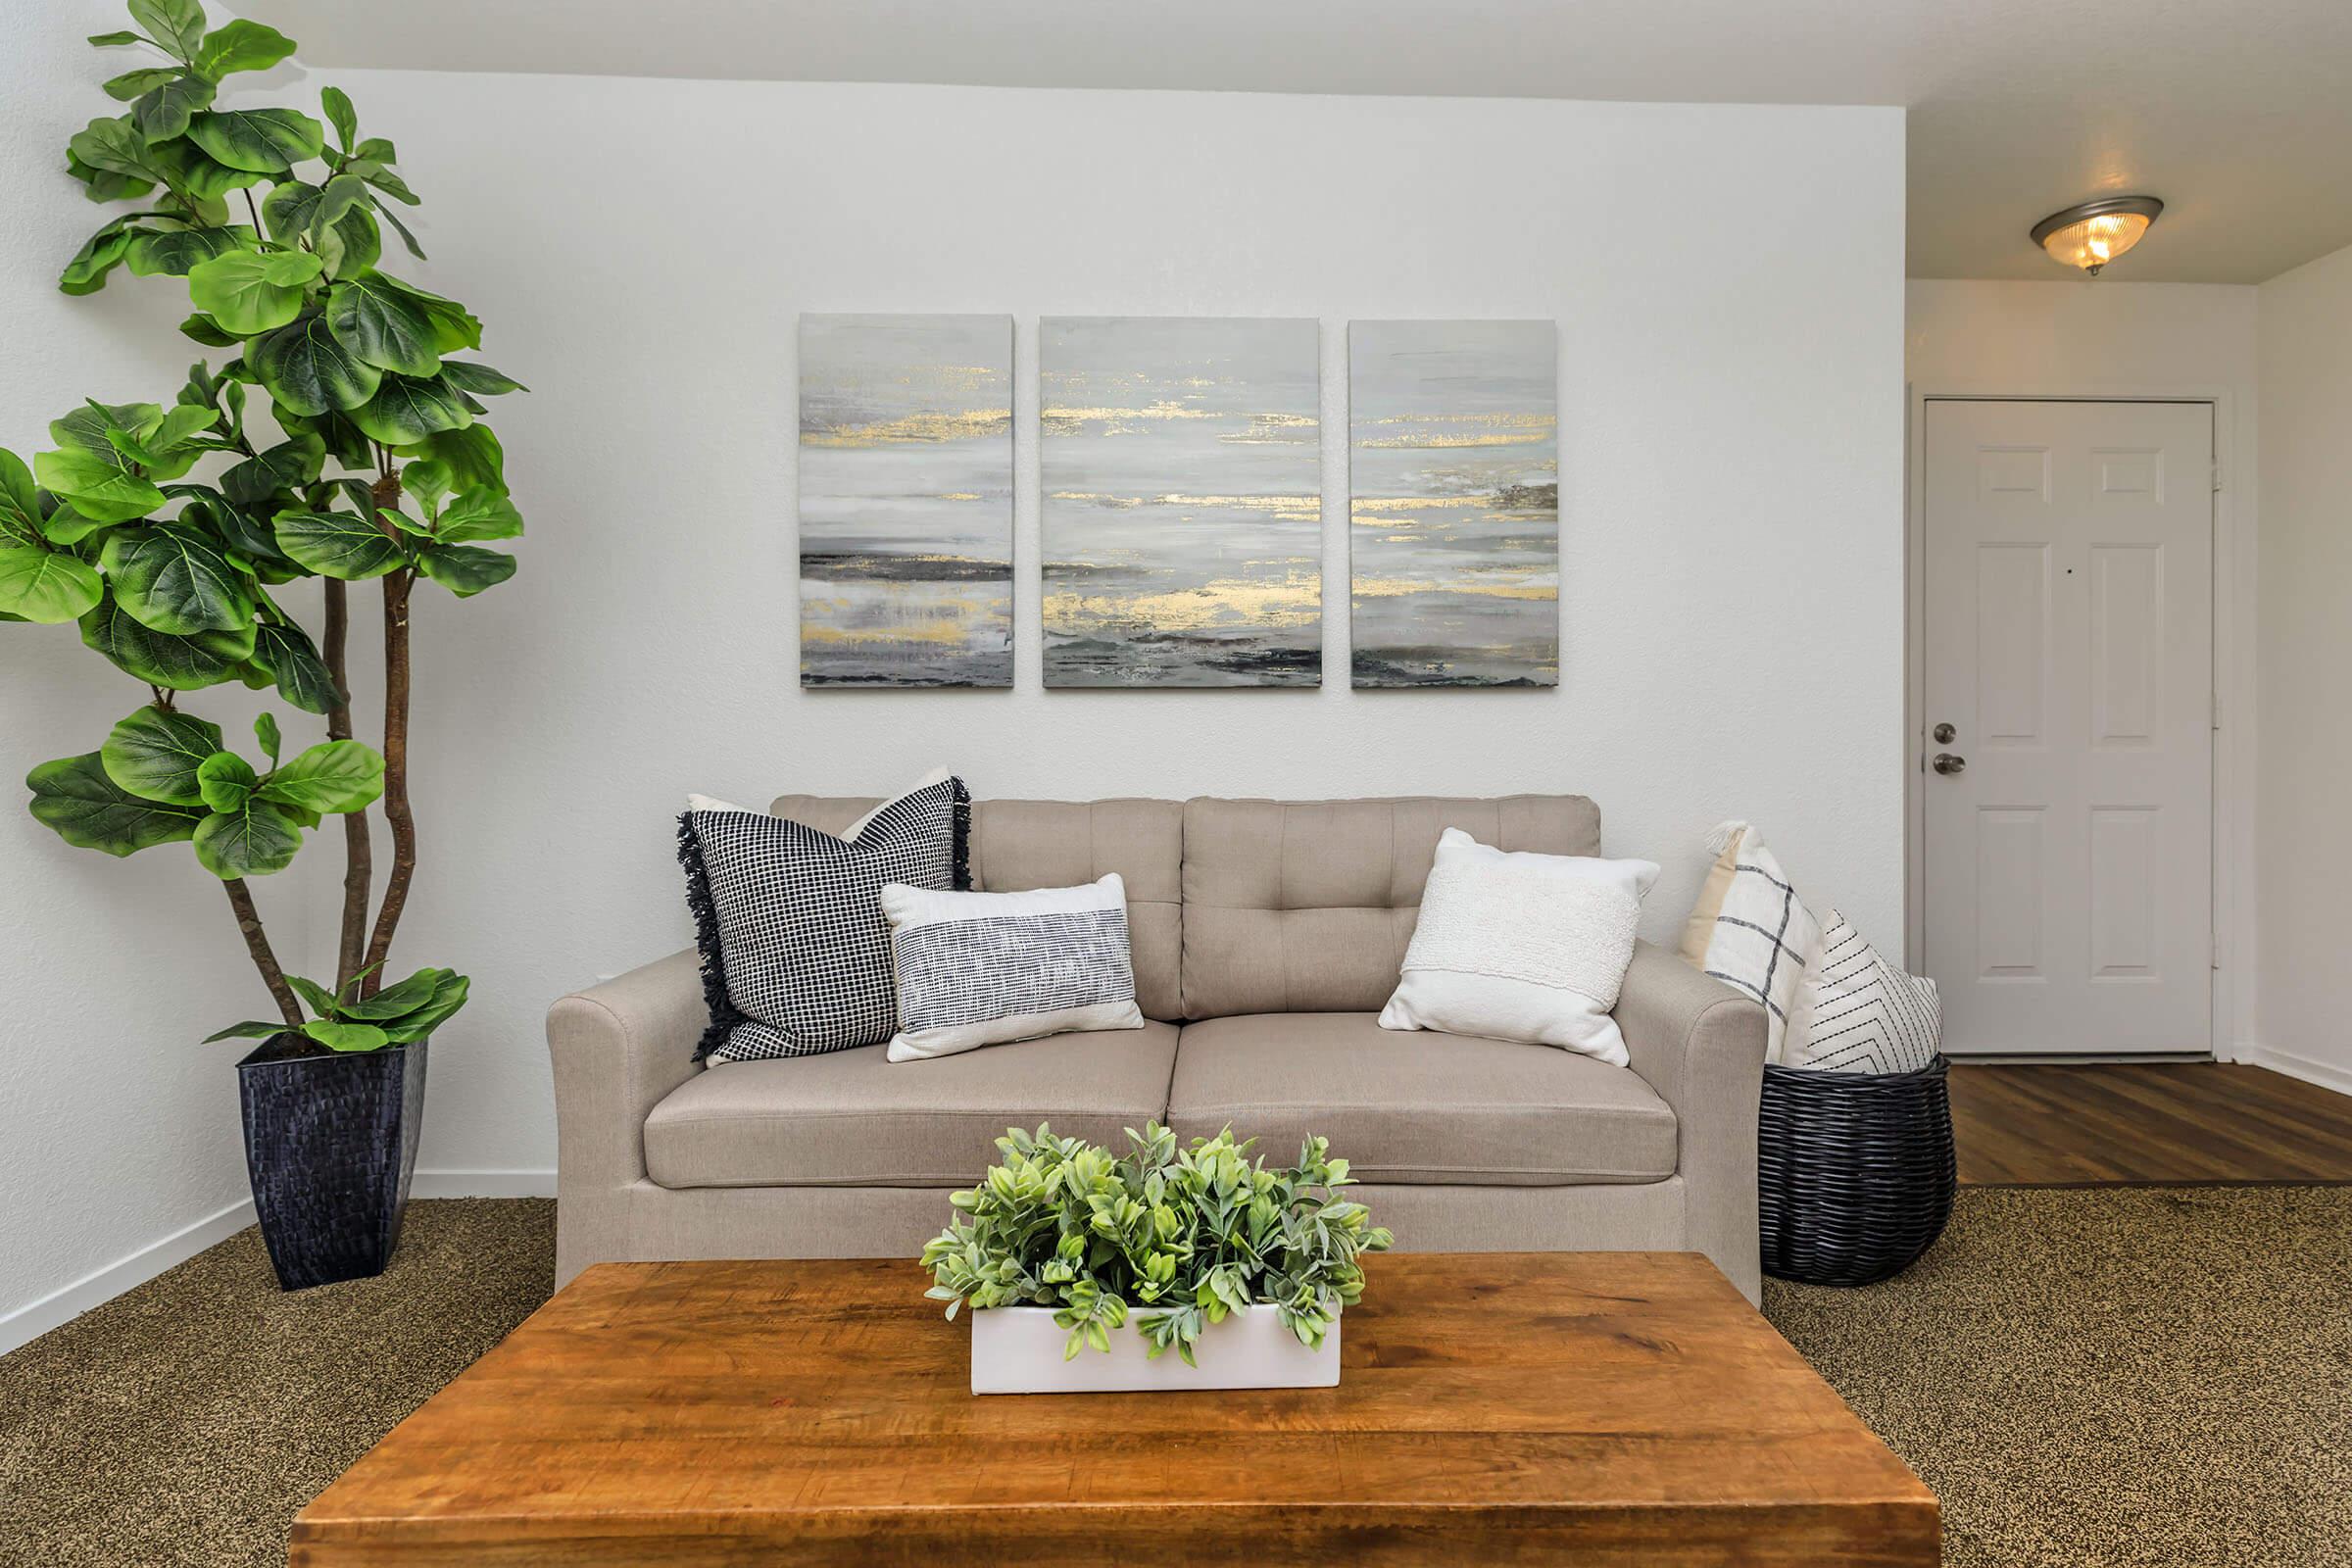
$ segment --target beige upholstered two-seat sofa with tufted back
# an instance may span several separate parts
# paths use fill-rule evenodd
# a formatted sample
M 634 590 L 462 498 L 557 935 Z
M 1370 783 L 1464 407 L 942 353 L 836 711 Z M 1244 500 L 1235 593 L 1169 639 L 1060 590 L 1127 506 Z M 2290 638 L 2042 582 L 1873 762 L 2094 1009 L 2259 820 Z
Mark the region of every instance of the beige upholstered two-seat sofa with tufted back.
M 870 799 L 786 795 L 840 832 Z M 1124 1147 L 1232 1124 L 1289 1159 L 1324 1133 L 1414 1251 L 1698 1251 L 1757 1295 L 1764 1011 L 1642 943 L 1632 1070 L 1374 1023 L 1437 835 L 1599 853 L 1576 795 L 978 802 L 974 882 L 1127 882 L 1141 1030 L 924 1063 L 882 1046 L 699 1067 L 694 952 L 557 1001 L 557 1281 L 612 1258 L 908 1255 L 1007 1126 Z

